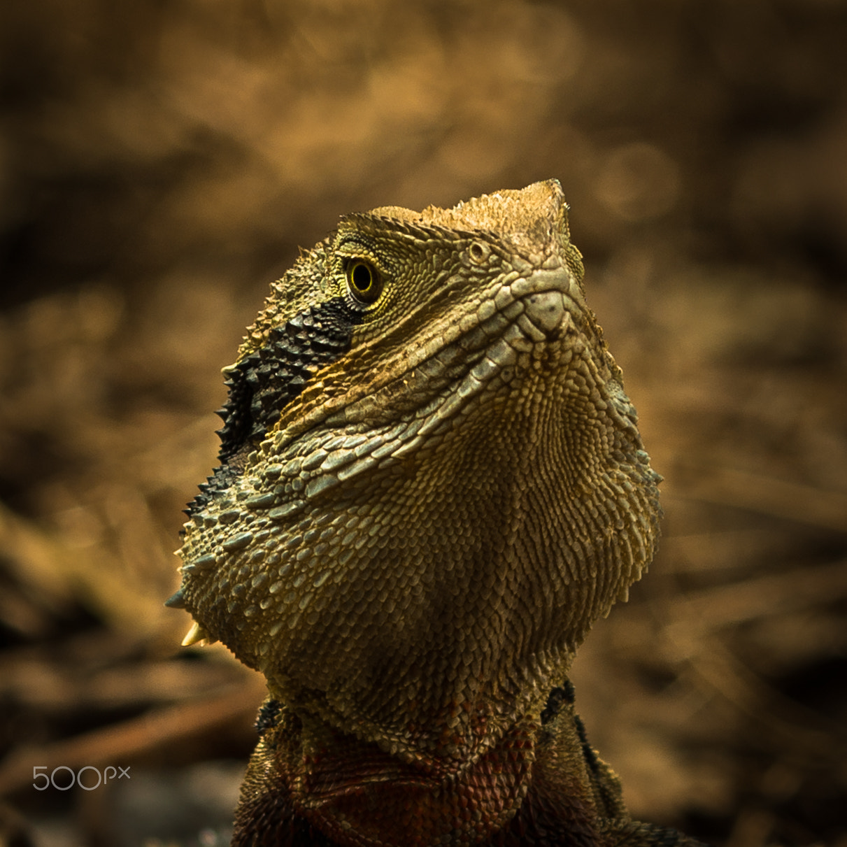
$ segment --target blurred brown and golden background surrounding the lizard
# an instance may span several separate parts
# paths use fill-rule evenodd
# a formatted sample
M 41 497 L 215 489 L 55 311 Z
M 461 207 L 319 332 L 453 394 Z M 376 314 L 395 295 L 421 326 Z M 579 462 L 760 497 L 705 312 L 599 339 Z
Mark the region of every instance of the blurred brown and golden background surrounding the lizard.
M 263 687 L 162 606 L 219 369 L 341 213 L 555 176 L 666 476 L 590 738 L 637 817 L 847 845 L 845 45 L 840 0 L 4 0 L 0 844 L 227 842 Z

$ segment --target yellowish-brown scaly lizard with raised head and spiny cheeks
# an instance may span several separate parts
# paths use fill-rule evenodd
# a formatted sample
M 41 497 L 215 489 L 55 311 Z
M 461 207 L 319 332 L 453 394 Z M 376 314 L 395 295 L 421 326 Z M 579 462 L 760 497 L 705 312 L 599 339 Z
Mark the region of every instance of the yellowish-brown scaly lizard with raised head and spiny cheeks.
M 233 844 L 696 844 L 633 821 L 568 671 L 661 477 L 557 180 L 381 207 L 271 287 L 167 601 L 268 685 Z

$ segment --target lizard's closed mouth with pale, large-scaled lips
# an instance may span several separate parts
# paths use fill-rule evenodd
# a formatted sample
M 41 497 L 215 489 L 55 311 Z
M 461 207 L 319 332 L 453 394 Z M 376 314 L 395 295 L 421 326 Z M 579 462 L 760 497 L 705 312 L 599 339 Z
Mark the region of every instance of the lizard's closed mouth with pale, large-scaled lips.
M 390 378 L 377 374 L 364 390 L 352 385 L 346 396 L 334 398 L 337 405 L 318 406 L 298 416 L 295 426 L 285 426 L 284 412 L 267 437 L 282 462 L 278 484 L 287 480 L 290 493 L 274 501 L 272 514 L 293 518 L 337 485 L 434 446 L 468 405 L 529 371 L 530 359 L 538 365 L 545 342 L 556 348 L 548 363 L 551 373 L 567 367 L 574 352 L 570 348 L 579 340 L 569 345 L 564 339 L 578 336 L 584 319 L 573 279 L 563 268 L 539 270 L 505 289 L 500 285 L 490 291 L 478 323 L 465 332 L 453 324 L 446 345 L 428 357 L 416 358 L 429 351 L 426 344 L 404 351 L 405 368 L 389 363 Z

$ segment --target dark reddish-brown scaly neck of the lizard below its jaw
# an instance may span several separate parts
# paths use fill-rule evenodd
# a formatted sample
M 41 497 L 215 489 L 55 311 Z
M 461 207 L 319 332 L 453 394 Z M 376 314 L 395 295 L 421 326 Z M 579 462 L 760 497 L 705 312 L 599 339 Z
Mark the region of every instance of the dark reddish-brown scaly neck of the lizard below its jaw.
M 601 824 L 628 821 L 617 780 L 588 747 L 573 702 L 547 708 L 543 725 L 523 717 L 457 768 L 392 756 L 268 700 L 232 844 L 518 847 L 555 835 L 571 847 L 612 843 Z

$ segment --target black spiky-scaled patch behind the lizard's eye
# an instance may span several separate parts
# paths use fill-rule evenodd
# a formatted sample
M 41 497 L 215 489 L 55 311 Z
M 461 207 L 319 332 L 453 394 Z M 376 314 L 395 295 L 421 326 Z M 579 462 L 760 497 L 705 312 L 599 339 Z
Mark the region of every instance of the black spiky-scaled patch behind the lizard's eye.
M 265 346 L 230 368 L 225 382 L 230 396 L 218 412 L 224 420 L 218 430 L 222 464 L 200 486 L 186 510 L 189 517 L 237 479 L 247 452 L 276 424 L 314 371 L 350 349 L 353 329 L 362 318 L 363 311 L 344 297 L 310 306 L 271 329 Z

